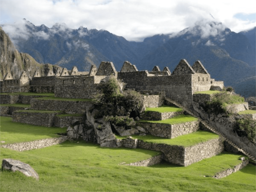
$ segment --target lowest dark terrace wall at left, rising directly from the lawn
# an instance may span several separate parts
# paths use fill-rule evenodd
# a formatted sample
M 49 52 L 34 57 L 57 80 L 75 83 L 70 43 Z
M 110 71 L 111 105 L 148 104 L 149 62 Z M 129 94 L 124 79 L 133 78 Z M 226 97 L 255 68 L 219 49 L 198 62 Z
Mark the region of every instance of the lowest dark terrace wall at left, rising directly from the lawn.
M 14 111 L 12 113 L 12 121 L 40 125 L 45 127 L 54 126 L 54 116 L 60 114 L 58 111 L 52 111 L 50 113 L 29 112 L 29 111 Z

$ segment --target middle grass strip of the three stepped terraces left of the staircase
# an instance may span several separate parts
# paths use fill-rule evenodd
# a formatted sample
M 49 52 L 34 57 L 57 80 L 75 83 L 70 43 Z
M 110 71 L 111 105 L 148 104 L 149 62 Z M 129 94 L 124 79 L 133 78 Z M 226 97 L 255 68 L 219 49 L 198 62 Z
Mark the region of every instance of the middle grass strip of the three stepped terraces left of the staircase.
M 158 121 L 148 121 L 148 120 L 140 120 L 140 123 L 160 123 L 160 124 L 180 124 L 180 123 L 186 123 L 191 121 L 197 121 L 196 117 L 193 117 L 191 115 L 179 115 L 172 117 L 170 119 L 164 119 L 164 120 L 158 120 Z

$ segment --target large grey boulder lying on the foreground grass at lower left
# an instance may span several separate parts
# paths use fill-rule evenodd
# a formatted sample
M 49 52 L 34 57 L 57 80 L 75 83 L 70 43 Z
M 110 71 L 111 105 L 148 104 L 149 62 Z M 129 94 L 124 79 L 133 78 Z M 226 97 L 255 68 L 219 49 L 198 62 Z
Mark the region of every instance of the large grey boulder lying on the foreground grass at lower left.
M 19 171 L 28 177 L 34 177 L 36 180 L 39 180 L 37 172 L 29 164 L 23 163 L 19 160 L 3 159 L 2 169 L 11 170 L 13 172 Z

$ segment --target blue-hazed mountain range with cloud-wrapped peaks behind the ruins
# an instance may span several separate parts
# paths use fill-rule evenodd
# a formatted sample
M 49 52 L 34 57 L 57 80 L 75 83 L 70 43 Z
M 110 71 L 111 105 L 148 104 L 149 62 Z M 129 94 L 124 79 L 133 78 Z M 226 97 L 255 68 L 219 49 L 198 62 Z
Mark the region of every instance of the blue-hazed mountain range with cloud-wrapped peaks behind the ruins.
M 223 80 L 225 86 L 233 86 L 243 95 L 241 82 L 255 79 L 255 28 L 235 33 L 222 23 L 200 21 L 179 33 L 130 42 L 106 30 L 70 29 L 64 23 L 48 28 L 24 19 L 2 27 L 19 51 L 28 52 L 40 63 L 68 69 L 77 66 L 80 71 L 88 71 L 91 64 L 98 67 L 104 60 L 112 61 L 119 71 L 128 60 L 139 70 L 151 70 L 158 65 L 160 69 L 168 66 L 173 71 L 180 59 L 191 65 L 200 60 L 212 78 Z M 255 81 L 248 81 L 246 87 L 252 90 L 246 91 L 246 95 L 255 96 Z

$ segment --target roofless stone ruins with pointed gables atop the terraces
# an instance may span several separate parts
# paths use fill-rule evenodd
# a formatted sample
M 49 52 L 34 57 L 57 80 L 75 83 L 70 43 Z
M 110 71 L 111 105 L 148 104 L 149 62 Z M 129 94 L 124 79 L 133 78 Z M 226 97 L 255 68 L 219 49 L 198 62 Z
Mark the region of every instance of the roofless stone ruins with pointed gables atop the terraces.
M 97 94 L 98 84 L 108 76 L 115 76 L 122 80 L 128 89 L 165 92 L 166 97 L 180 103 L 191 103 L 193 94 L 197 91 L 208 91 L 211 86 L 223 88 L 223 82 L 211 79 L 200 61 L 196 61 L 191 67 L 185 59 L 180 60 L 172 73 L 168 67 L 161 71 L 158 66 L 152 71 L 138 71 L 136 66 L 128 61 L 124 62 L 120 72 L 116 72 L 112 62 L 105 61 L 100 63 L 98 70 L 92 65 L 90 72 L 79 72 L 76 67 L 70 72 L 66 68 L 62 71 L 58 69 L 55 74 L 49 74 L 51 72 L 42 77 L 35 76 L 31 81 L 27 79 L 30 90 L 54 92 L 55 97 L 62 98 L 93 98 Z M 3 92 L 18 91 L 4 89 L 8 81 L 7 75 L 3 81 Z

